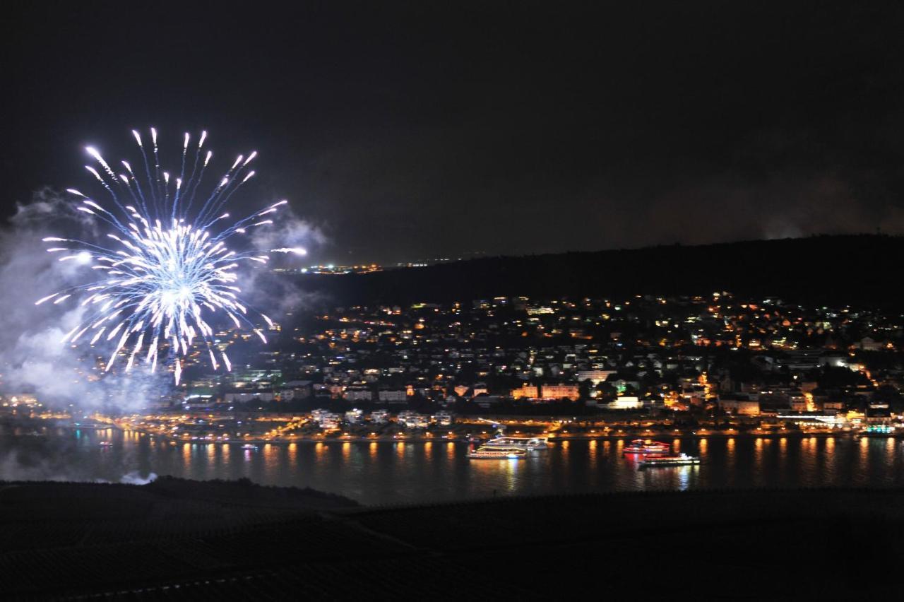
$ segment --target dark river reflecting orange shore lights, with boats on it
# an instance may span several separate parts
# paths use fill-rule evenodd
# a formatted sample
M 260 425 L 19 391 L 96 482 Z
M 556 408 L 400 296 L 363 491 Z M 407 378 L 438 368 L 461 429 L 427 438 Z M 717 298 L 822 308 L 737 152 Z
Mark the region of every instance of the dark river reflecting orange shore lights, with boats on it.
M 469 460 L 466 444 L 299 442 L 177 443 L 136 432 L 0 430 L 0 478 L 142 482 L 151 475 L 248 477 L 309 486 L 365 504 L 424 503 L 493 495 L 698 488 L 904 485 L 904 441 L 840 437 L 661 437 L 700 466 L 638 469 L 618 439 L 560 441 L 523 460 Z M 111 445 L 101 446 L 101 441 Z

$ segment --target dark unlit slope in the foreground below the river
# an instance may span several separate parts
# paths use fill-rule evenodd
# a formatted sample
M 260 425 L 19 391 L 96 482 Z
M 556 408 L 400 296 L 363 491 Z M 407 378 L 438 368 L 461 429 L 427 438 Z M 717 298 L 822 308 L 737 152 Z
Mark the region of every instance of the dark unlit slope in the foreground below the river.
M 0 510 L 7 599 L 869 599 L 898 593 L 904 560 L 904 490 L 358 508 L 247 484 L 18 483 Z

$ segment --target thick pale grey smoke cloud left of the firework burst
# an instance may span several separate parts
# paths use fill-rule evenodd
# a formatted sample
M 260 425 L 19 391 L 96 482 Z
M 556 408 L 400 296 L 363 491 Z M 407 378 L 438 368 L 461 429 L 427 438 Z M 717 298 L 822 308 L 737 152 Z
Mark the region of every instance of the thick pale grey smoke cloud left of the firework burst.
M 61 343 L 80 323 L 81 306 L 34 302 L 79 283 L 84 266 L 57 261 L 44 249 L 47 236 L 94 240 L 98 226 L 74 203 L 44 188 L 20 204 L 0 230 L 0 386 L 5 394 L 33 393 L 53 406 L 137 410 L 165 394 L 165 375 L 134 371 L 101 378 L 97 360 L 104 350 Z

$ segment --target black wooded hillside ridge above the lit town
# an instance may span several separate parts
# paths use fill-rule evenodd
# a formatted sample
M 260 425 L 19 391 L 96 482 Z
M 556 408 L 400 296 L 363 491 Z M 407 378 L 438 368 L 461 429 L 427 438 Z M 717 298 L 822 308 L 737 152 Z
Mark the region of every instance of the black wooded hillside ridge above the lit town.
M 686 247 L 471 259 L 364 275 L 298 277 L 338 304 L 705 295 L 728 290 L 807 304 L 902 305 L 904 238 L 818 236 Z

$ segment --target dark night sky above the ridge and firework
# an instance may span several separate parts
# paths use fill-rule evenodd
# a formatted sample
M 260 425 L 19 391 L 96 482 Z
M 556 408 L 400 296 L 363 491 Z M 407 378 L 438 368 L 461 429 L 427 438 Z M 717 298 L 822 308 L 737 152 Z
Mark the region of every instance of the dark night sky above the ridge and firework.
M 153 125 L 258 149 L 313 259 L 904 232 L 899 3 L 15 4 L 6 214 Z

